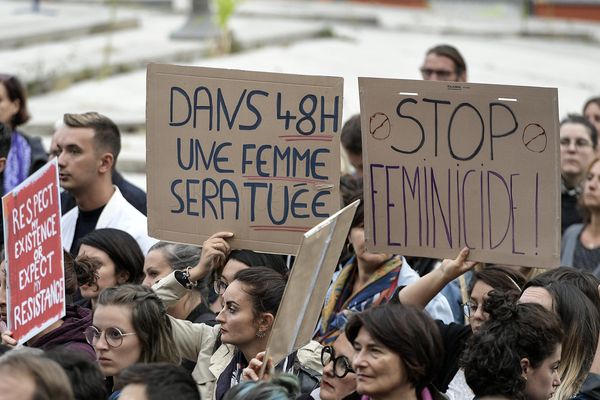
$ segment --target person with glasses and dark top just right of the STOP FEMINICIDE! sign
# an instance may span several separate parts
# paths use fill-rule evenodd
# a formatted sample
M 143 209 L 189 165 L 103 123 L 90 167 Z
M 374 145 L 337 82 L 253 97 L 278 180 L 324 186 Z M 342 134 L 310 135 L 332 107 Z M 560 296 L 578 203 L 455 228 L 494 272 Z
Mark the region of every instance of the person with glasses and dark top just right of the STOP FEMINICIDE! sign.
M 598 133 L 584 116 L 569 114 L 560 121 L 561 233 L 580 223 L 577 202 L 581 183 L 594 160 Z

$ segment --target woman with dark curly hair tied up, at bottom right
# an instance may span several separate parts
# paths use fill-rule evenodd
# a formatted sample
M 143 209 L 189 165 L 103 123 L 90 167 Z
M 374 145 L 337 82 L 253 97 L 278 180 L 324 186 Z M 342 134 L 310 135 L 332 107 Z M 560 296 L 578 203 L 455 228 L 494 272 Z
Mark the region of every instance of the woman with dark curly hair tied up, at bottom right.
M 563 331 L 556 315 L 538 304 L 490 294 L 490 320 L 469 340 L 461 365 L 477 398 L 547 400 L 560 384 Z

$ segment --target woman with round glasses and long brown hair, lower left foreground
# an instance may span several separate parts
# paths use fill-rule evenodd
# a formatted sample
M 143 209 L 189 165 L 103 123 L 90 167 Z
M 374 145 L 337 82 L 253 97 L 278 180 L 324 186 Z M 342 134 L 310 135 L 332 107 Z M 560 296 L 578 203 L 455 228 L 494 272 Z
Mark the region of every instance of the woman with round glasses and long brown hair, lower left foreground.
M 136 363 L 180 361 L 171 322 L 152 289 L 121 285 L 98 297 L 92 325 L 85 336 L 96 351 L 100 370 L 108 379 Z

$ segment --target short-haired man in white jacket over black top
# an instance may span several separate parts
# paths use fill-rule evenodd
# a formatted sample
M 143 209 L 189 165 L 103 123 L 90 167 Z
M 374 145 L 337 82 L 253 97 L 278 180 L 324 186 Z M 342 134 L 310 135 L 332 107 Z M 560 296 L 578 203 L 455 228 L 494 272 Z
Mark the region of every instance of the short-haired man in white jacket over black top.
M 121 150 L 119 128 L 96 112 L 65 114 L 55 134 L 60 185 L 77 207 L 62 217 L 63 246 L 77 255 L 79 239 L 100 228 L 121 229 L 146 254 L 156 243 L 147 234 L 146 217 L 112 184 Z

